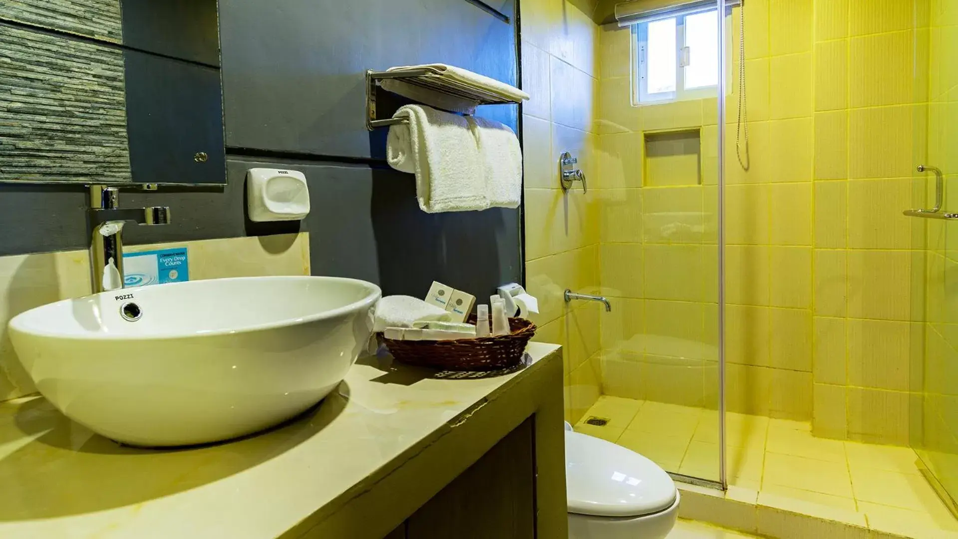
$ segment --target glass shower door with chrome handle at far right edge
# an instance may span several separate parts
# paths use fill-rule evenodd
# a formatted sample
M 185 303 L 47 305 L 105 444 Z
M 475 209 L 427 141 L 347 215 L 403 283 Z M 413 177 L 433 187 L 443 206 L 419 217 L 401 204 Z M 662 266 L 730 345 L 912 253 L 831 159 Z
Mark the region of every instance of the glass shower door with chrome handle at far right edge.
M 926 193 L 916 199 L 926 200 L 926 208 L 937 204 L 935 175 L 940 173 L 944 188 L 940 212 L 958 212 L 958 131 L 954 127 L 958 42 L 947 38 L 958 31 L 958 0 L 933 3 L 928 26 L 927 131 L 924 125 L 916 126 L 915 139 L 916 145 L 927 144 L 924 163 L 929 168 L 921 174 Z M 958 221 L 926 222 L 921 421 L 912 425 L 911 438 L 925 476 L 954 513 L 958 499 Z

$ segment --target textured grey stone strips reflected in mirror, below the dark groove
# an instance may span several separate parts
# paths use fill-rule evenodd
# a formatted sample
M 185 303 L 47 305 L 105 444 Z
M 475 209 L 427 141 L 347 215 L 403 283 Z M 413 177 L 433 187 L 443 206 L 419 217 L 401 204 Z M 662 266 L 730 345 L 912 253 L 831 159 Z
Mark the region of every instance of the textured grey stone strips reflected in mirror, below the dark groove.
M 0 180 L 130 180 L 122 51 L 0 23 Z

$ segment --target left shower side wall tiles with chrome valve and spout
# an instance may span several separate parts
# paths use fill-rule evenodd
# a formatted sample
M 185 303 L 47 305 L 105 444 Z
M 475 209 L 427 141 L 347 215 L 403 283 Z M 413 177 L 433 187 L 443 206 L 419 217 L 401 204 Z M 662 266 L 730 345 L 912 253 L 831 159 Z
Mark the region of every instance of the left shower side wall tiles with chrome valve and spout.
M 566 288 L 597 293 L 600 280 L 598 27 L 577 5 L 588 11 L 587 2 L 524 0 L 520 28 L 522 87 L 532 97 L 522 106 L 526 283 L 539 299 L 536 340 L 563 346 L 565 417 L 572 423 L 602 393 L 599 306 L 562 298 Z M 633 161 L 628 140 L 619 146 L 622 153 L 608 158 Z M 568 193 L 559 187 L 563 151 L 579 159 L 588 193 L 578 185 Z M 631 200 L 621 202 L 625 207 Z M 609 256 L 630 264 L 641 253 L 612 248 Z

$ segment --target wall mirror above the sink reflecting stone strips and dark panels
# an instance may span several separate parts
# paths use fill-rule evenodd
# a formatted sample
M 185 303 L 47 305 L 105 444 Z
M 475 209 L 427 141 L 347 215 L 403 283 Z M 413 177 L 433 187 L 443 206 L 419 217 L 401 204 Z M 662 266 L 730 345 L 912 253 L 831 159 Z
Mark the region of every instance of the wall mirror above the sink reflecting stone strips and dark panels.
M 224 185 L 217 0 L 0 4 L 0 182 Z

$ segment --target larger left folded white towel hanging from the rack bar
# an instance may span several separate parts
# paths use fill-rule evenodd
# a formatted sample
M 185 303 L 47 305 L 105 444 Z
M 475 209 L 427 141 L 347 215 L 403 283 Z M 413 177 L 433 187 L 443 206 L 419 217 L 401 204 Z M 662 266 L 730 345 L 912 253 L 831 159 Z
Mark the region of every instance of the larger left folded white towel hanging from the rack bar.
M 408 168 L 411 155 L 416 172 L 416 197 L 426 213 L 468 212 L 489 208 L 484 165 L 479 157 L 475 121 L 471 117 L 442 112 L 423 105 L 399 107 L 394 118 L 408 124 L 390 127 L 387 158 L 398 170 Z M 408 139 L 403 129 L 408 129 Z M 409 141 L 409 149 L 401 143 Z M 395 145 L 388 148 L 390 141 Z M 394 165 L 394 162 L 396 165 Z

